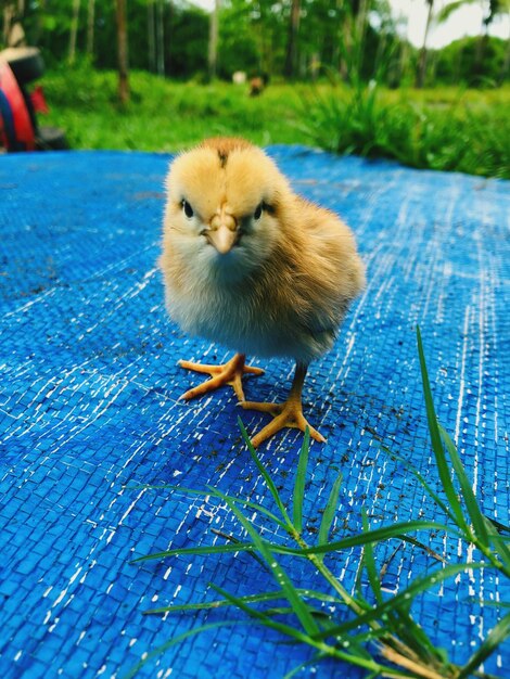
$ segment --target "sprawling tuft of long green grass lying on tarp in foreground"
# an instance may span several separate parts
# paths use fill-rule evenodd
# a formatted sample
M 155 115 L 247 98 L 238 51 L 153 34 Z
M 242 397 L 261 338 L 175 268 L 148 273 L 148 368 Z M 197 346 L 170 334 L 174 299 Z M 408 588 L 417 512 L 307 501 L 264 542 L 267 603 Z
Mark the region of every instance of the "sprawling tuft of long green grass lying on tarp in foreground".
M 367 511 L 361 508 L 360 534 L 340 540 L 330 540 L 329 533 L 336 512 L 342 483 L 342 477 L 339 476 L 333 483 L 322 514 L 318 540 L 310 545 L 303 531 L 309 452 L 308 434 L 305 436 L 296 467 L 291 498 L 291 517 L 269 471 L 258 458 L 242 422 L 239 421 L 250 454 L 272 497 L 275 512 L 256 502 L 226 495 L 214 487 L 207 487 L 203 491 L 180 488 L 181 491 L 188 491 L 191 495 L 215 498 L 225 505 L 235 517 L 240 526 L 240 536 L 225 536 L 227 537 L 225 545 L 171 549 L 142 556 L 137 562 L 176 555 L 211 554 L 214 556 L 246 551 L 256 556 L 266 571 L 272 575 L 276 588 L 267 592 L 237 597 L 212 585 L 212 589 L 219 595 L 217 600 L 146 611 L 146 614 L 161 615 L 226 607 L 245 614 L 245 619 L 240 623 L 224 620 L 192 628 L 156 649 L 149 658 L 163 653 L 190 636 L 215 626 L 256 624 L 280 632 L 292 642 L 303 643 L 310 648 L 310 659 L 294 668 L 288 677 L 295 675 L 304 666 L 318 663 L 323 658 L 333 658 L 340 663 L 357 666 L 366 671 L 367 677 L 373 678 L 462 679 L 473 675 L 488 677 L 480 670 L 480 667 L 510 636 L 510 613 L 500 618 L 463 665 L 450 662 L 444 649 L 438 649 L 433 644 L 420 622 L 415 619 L 411 613 L 412 604 L 418 597 L 464 572 L 493 568 L 501 576 L 510 577 L 510 550 L 506 539 L 498 531 L 497 526 L 482 513 L 457 449 L 437 421 L 419 329 L 417 329 L 417 342 L 431 446 L 444 497 L 433 491 L 409 463 L 407 466 L 436 508 L 444 513 L 445 523 L 420 520 L 373 528 L 370 526 Z M 397 456 L 394 457 L 399 459 Z M 246 510 L 254 509 L 272 522 L 275 528 L 283 529 L 291 546 L 267 539 L 268 531 L 259 531 L 245 513 Z M 388 539 L 408 540 L 421 546 L 421 542 L 409 536 L 417 530 L 444 531 L 456 536 L 479 550 L 482 559 L 475 560 L 476 552 L 472 550 L 473 559 L 469 563 L 442 563 L 441 567 L 416 577 L 405 589 L 387 595 L 381 586 L 382 576 L 377 566 L 375 549 Z M 362 549 L 355 593 L 344 587 L 326 562 L 328 555 L 353 547 Z M 297 587 L 282 565 L 281 556 L 283 555 L 292 555 L 308 562 L 315 569 L 317 578 L 322 581 L 323 588 L 311 591 Z M 439 561 L 444 562 L 444 560 Z M 360 586 L 361 579 L 368 582 L 368 591 L 365 593 Z M 327 608 L 320 607 L 323 602 L 334 605 Z M 508 605 L 503 602 L 501 611 Z M 342 619 L 337 619 L 334 613 L 330 612 L 335 611 L 336 607 L 343 611 Z M 281 619 L 282 615 L 284 619 Z M 140 665 L 127 676 L 135 676 L 139 667 Z

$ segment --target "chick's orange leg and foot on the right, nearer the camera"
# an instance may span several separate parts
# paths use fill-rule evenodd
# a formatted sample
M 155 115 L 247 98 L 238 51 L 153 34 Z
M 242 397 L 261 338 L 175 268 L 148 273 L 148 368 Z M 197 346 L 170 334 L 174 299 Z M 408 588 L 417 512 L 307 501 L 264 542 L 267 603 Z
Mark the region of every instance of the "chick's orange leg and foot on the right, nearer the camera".
M 252 438 L 252 445 L 255 448 L 285 427 L 294 427 L 302 432 L 308 427 L 311 438 L 320 443 L 326 443 L 326 438 L 322 434 L 310 426 L 303 414 L 302 393 L 307 369 L 307 366 L 296 363 L 291 392 L 284 403 L 257 403 L 253 401 L 244 401 L 241 403 L 245 410 L 259 410 L 260 412 L 268 412 L 273 417 L 272 422 L 269 422 L 268 425 Z

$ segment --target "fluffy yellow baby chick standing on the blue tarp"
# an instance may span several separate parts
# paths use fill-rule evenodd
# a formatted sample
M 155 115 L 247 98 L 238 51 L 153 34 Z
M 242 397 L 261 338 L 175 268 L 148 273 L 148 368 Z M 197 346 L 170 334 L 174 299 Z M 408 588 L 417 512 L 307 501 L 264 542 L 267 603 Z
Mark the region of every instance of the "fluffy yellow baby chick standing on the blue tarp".
M 229 384 L 243 408 L 273 420 L 253 439 L 308 426 L 308 363 L 331 349 L 365 284 L 353 233 L 333 213 L 296 195 L 275 163 L 242 139 L 208 139 L 176 157 L 167 177 L 161 266 L 170 317 L 192 335 L 237 351 L 224 366 L 180 361 L 211 379 L 190 399 Z M 244 399 L 241 379 L 260 374 L 245 355 L 295 360 L 284 403 Z

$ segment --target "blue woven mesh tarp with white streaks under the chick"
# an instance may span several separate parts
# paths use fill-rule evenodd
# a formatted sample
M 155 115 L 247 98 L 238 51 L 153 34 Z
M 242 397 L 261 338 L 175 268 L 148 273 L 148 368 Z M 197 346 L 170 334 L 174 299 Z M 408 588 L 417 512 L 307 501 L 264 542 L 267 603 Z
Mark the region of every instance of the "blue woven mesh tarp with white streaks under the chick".
M 437 488 L 422 401 L 420 325 L 434 399 L 484 512 L 508 524 L 510 184 L 417 171 L 386 162 L 272 148 L 297 191 L 339 212 L 357 235 L 368 286 L 305 384 L 310 422 L 306 535 L 314 540 L 331 484 L 344 475 L 334 535 L 437 515 L 405 465 Z M 225 508 L 143 484 L 251 497 L 272 509 L 242 445 L 231 389 L 184 403 L 200 376 L 179 358 L 214 362 L 221 347 L 184 336 L 166 318 L 157 269 L 163 179 L 169 158 L 69 152 L 0 162 L 0 668 L 2 677 L 125 676 L 144 654 L 193 626 L 235 617 L 144 616 L 170 603 L 273 589 L 248 554 L 133 564 L 136 556 L 221 541 Z M 253 400 L 281 400 L 290 362 L 257 361 Z M 242 412 L 250 432 L 265 415 Z M 262 446 L 289 497 L 302 436 Z M 259 517 L 255 516 L 255 524 Z M 260 525 L 258 523 L 258 525 Z M 423 534 L 422 539 L 428 539 Z M 416 546 L 378 552 L 395 591 L 438 564 Z M 454 561 L 457 540 L 437 537 Z M 393 553 L 390 560 L 388 554 Z M 462 548 L 461 559 L 469 554 Z M 359 552 L 329 562 L 353 584 Z M 285 567 L 316 586 L 299 560 Z M 439 564 L 441 565 L 441 564 Z M 481 601 L 509 599 L 489 571 L 460 576 L 412 611 L 454 659 L 466 661 L 498 619 Z M 241 616 L 239 616 L 241 617 Z M 277 678 L 311 653 L 257 626 L 211 629 L 151 657 L 139 677 Z M 486 669 L 508 672 L 500 649 Z M 357 677 L 319 664 L 303 676 Z M 508 675 L 507 675 L 508 676 Z

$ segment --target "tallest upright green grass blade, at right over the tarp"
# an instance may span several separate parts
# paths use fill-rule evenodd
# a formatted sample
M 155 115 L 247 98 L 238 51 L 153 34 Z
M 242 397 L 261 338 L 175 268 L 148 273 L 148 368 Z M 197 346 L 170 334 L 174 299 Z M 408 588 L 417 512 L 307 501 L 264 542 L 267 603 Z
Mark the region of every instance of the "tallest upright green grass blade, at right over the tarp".
M 423 397 L 425 400 L 426 420 L 429 422 L 429 433 L 431 437 L 432 450 L 434 452 L 435 461 L 437 464 L 437 471 L 443 484 L 443 490 L 445 491 L 448 504 L 455 515 L 455 521 L 459 528 L 468 536 L 470 530 L 466 522 L 462 508 L 457 497 L 454 483 L 451 481 L 450 471 L 448 469 L 445 450 L 443 448 L 443 440 L 441 438 L 439 426 L 437 423 L 437 417 L 435 414 L 434 401 L 432 398 L 432 389 L 429 381 L 429 373 L 426 370 L 425 355 L 423 351 L 423 343 L 421 341 L 420 328 L 417 326 L 417 340 L 418 340 L 418 354 L 420 357 L 421 377 L 423 383 Z

